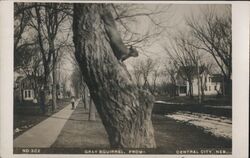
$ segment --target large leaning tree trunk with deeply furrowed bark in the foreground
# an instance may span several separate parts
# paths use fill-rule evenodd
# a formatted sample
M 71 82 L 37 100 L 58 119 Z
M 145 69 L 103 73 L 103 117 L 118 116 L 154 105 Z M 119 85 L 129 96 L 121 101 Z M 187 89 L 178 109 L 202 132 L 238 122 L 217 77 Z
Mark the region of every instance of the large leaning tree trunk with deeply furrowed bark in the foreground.
M 75 4 L 75 56 L 109 136 L 111 147 L 154 148 L 153 96 L 139 91 L 114 56 L 100 14 L 106 4 Z

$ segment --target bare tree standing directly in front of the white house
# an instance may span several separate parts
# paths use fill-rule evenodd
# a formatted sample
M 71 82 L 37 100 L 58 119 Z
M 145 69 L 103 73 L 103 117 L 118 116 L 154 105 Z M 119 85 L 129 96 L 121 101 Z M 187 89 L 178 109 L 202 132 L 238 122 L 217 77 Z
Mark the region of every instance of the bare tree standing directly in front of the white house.
M 173 62 L 168 65 L 170 68 L 167 68 L 168 74 L 170 77 L 174 78 L 174 71 L 178 73 L 178 75 L 188 81 L 189 83 L 189 94 L 192 97 L 192 82 L 193 79 L 196 78 L 198 85 L 198 101 L 201 103 L 204 98 L 204 81 L 202 80 L 205 71 L 210 71 L 211 63 L 203 60 L 206 58 L 202 51 L 194 46 L 197 41 L 193 36 L 190 36 L 189 32 L 178 32 L 177 35 L 173 38 L 174 43 L 171 44 L 172 49 L 165 48 L 169 57 Z M 172 66 L 171 66 L 172 65 Z M 173 68 L 175 67 L 175 68 Z M 180 69 L 182 69 L 180 71 Z

